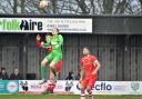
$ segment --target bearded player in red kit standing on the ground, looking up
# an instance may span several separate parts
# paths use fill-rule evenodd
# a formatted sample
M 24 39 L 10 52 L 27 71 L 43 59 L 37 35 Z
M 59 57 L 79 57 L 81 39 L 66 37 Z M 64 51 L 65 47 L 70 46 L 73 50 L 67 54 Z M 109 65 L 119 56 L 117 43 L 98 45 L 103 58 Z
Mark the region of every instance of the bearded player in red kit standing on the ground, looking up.
M 89 48 L 83 48 L 83 58 L 81 58 L 81 99 L 85 99 L 85 89 L 90 96 L 90 99 L 93 99 L 93 95 L 91 92 L 94 83 L 98 79 L 98 70 L 100 69 L 101 65 L 98 61 L 98 58 L 90 55 Z

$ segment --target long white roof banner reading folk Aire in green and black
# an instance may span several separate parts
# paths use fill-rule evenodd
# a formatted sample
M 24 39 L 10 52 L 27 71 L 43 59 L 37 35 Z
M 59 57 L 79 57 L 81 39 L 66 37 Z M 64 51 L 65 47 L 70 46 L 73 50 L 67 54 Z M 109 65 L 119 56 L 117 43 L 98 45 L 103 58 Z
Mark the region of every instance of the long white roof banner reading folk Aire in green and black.
M 65 33 L 92 33 L 91 18 L 0 18 L 0 32 L 51 32 L 57 27 Z

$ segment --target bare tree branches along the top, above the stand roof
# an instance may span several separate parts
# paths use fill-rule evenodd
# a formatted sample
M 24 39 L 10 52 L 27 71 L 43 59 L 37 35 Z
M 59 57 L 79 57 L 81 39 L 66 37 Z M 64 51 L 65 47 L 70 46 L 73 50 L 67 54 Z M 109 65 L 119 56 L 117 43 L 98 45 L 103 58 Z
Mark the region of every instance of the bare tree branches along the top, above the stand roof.
M 0 0 L 0 13 L 45 14 L 141 14 L 142 0 L 50 0 L 40 9 L 40 0 Z

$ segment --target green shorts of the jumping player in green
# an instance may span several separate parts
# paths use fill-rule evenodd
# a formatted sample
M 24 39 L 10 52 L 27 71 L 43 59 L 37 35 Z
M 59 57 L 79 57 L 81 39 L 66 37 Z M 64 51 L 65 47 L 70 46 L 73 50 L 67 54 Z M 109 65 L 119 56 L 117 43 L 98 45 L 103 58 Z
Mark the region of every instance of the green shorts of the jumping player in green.
M 49 62 L 54 61 L 58 63 L 62 59 L 62 52 L 52 50 L 52 52 L 49 53 L 45 58 Z

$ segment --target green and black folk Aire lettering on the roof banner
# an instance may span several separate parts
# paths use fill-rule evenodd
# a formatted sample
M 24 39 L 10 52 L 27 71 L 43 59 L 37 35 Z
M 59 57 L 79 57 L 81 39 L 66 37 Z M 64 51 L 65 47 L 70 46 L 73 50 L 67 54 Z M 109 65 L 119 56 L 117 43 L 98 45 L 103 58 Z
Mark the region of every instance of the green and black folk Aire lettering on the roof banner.
M 42 21 L 33 21 L 31 19 L 29 20 L 18 20 L 18 19 L 1 19 L 0 20 L 0 29 L 7 30 L 7 31 L 19 31 L 19 30 L 39 30 L 41 31 L 43 29 Z

